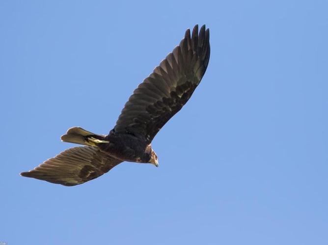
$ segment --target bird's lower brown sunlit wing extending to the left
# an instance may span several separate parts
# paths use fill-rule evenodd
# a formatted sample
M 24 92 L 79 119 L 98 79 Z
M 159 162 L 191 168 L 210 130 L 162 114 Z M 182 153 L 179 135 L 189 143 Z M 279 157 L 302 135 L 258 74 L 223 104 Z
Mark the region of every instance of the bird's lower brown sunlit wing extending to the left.
M 95 179 L 122 161 L 110 157 L 97 147 L 73 147 L 21 175 L 55 184 L 74 186 Z

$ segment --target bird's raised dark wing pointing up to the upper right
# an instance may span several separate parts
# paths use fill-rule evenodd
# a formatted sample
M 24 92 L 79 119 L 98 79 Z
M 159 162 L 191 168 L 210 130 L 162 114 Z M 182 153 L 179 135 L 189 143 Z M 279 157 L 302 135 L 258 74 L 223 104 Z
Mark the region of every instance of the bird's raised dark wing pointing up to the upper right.
M 111 133 L 133 134 L 151 142 L 191 97 L 210 59 L 210 32 L 203 25 L 186 31 L 173 49 L 134 91 Z

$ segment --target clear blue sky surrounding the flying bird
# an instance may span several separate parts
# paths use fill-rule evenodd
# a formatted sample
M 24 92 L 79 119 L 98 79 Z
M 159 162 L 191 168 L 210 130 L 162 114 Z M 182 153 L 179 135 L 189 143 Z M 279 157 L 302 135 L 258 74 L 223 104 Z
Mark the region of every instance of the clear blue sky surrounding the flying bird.
M 0 242 L 8 245 L 328 244 L 328 2 L 0 1 Z M 19 175 L 106 134 L 187 28 L 211 58 L 153 141 L 64 187 Z

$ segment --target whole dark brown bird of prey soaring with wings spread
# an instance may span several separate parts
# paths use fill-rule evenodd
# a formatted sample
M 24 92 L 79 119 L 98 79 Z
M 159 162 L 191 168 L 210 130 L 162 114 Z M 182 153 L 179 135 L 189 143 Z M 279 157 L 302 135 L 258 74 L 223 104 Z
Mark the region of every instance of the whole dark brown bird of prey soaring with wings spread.
M 72 127 L 61 141 L 80 144 L 64 150 L 24 177 L 75 186 L 95 179 L 127 161 L 159 166 L 151 143 L 165 123 L 191 98 L 210 59 L 210 31 L 187 29 L 171 53 L 140 83 L 108 135 Z

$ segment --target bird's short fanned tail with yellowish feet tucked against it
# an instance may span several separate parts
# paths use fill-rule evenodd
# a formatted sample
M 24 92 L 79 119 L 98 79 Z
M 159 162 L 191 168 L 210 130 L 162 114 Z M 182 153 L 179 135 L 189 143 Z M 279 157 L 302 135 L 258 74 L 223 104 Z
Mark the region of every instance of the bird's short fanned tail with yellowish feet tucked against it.
M 82 127 L 71 127 L 66 134 L 61 136 L 61 140 L 92 147 L 96 147 L 98 144 L 109 143 L 106 140 L 106 135 L 94 134 Z

